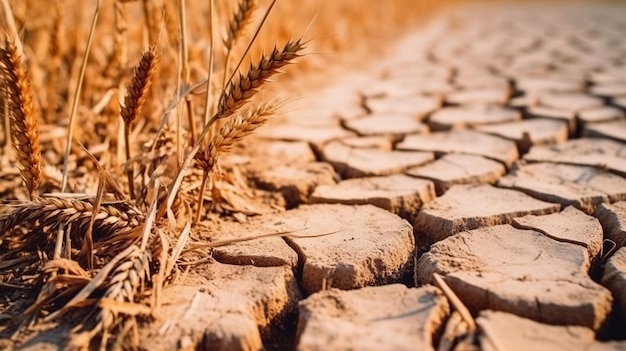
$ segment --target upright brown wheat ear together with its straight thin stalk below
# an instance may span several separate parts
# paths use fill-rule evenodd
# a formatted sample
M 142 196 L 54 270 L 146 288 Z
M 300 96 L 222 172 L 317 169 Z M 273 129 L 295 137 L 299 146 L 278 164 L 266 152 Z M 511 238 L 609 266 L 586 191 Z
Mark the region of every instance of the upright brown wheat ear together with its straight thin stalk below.
M 124 120 L 124 139 L 126 146 L 126 160 L 130 160 L 130 131 L 133 126 L 133 122 L 141 114 L 141 109 L 146 102 L 146 96 L 150 85 L 152 85 L 152 77 L 156 72 L 159 65 L 159 55 L 156 52 L 156 47 L 151 46 L 146 52 L 143 53 L 139 64 L 135 67 L 133 78 L 128 86 L 128 92 L 124 97 L 124 106 L 121 107 L 120 115 Z M 134 175 L 132 165 L 128 165 L 126 171 L 128 176 L 128 191 L 130 197 L 135 197 L 134 187 Z

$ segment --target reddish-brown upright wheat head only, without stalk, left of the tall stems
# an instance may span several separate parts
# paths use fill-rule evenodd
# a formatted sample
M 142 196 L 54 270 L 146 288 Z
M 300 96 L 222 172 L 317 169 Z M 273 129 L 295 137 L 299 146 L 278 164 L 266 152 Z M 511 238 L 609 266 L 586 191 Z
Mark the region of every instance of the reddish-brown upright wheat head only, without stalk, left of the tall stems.
M 124 97 L 124 106 L 121 106 L 121 116 L 128 126 L 132 126 L 137 116 L 141 113 L 146 101 L 148 89 L 152 85 L 152 77 L 159 66 L 159 55 L 156 47 L 151 46 L 143 53 L 139 64 L 135 67 L 133 78 Z

